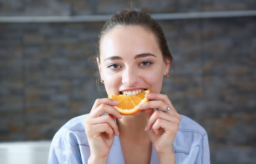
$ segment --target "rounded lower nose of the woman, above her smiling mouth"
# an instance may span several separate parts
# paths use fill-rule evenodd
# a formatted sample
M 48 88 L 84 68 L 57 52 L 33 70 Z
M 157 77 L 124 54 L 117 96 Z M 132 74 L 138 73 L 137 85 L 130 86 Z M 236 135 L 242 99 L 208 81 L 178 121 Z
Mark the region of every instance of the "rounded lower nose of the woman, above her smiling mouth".
M 136 84 L 140 79 L 139 72 L 136 68 L 133 67 L 126 67 L 123 71 L 122 75 L 122 82 L 128 87 L 133 86 Z

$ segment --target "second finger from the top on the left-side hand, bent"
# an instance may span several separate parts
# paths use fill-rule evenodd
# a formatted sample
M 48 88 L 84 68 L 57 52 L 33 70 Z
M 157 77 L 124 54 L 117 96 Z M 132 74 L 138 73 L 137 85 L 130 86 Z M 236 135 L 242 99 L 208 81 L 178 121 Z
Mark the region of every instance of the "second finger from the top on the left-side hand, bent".
M 95 108 L 93 111 L 91 111 L 91 117 L 96 118 L 100 117 L 103 113 L 108 113 L 113 115 L 114 117 L 121 119 L 122 115 L 114 108 L 113 106 L 110 106 L 108 104 L 100 104 L 97 108 Z

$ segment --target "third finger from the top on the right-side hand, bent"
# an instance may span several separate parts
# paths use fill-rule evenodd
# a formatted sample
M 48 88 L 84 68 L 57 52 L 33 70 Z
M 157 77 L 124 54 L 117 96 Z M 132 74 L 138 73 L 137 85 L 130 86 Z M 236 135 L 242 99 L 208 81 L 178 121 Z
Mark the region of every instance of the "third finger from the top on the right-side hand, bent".
M 163 120 L 169 121 L 169 122 L 171 122 L 173 124 L 177 124 L 177 125 L 179 125 L 179 122 L 180 122 L 180 119 L 177 117 L 170 116 L 163 112 L 155 111 L 151 115 L 151 117 L 149 117 L 145 130 L 149 131 L 152 128 L 152 126 L 155 124 L 156 120 L 158 120 L 158 119 L 163 119 Z

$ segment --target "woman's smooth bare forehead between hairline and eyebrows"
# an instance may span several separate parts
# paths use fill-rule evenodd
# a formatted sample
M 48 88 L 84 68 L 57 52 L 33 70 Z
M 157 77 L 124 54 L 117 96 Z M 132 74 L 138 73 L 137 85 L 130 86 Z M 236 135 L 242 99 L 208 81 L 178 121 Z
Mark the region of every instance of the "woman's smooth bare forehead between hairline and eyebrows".
M 161 54 L 161 51 L 152 31 L 137 25 L 118 25 L 101 38 L 100 53 L 106 57 L 106 54 Z

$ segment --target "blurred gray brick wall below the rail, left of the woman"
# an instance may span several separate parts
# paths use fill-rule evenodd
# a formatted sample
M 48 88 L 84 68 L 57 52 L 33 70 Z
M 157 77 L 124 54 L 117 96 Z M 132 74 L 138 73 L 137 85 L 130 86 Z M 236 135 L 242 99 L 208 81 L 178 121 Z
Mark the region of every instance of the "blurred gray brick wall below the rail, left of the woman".
M 99 97 L 93 54 L 102 23 L 0 24 L 1 140 L 51 139 Z

